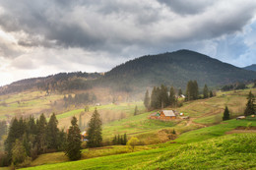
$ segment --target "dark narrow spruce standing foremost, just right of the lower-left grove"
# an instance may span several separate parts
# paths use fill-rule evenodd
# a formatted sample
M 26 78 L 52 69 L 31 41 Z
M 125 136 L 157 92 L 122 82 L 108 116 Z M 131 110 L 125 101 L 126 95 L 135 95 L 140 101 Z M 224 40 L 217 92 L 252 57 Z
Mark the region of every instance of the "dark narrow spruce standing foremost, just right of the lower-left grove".
M 70 160 L 78 160 L 81 158 L 81 134 L 77 124 L 78 120 L 74 116 L 68 131 L 67 146 L 65 154 Z

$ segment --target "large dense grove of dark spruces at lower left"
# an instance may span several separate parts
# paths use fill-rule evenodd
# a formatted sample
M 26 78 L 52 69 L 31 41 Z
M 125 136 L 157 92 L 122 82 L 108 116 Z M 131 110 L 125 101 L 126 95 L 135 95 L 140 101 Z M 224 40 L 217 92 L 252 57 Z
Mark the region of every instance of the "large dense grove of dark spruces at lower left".
M 28 119 L 14 118 L 5 141 L 6 164 L 18 165 L 41 153 L 64 150 L 66 133 L 57 125 L 54 113 L 49 122 L 43 114 L 36 120 L 32 116 Z

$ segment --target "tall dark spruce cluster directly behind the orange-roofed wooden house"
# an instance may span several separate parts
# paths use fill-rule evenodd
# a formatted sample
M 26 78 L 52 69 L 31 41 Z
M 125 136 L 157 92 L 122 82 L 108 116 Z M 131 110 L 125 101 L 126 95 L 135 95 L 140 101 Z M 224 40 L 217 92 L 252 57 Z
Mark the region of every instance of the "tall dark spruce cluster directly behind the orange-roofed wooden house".
M 177 99 L 175 97 L 175 89 L 171 86 L 168 90 L 167 86 L 154 86 L 151 97 L 149 91 L 146 91 L 144 104 L 147 109 L 158 109 L 166 106 L 175 106 Z

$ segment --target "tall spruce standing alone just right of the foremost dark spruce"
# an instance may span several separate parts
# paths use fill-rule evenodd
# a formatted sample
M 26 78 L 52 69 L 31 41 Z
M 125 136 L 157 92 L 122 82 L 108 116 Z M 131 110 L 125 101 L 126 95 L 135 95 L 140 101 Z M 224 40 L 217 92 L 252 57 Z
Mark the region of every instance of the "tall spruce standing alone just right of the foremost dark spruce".
M 88 129 L 88 146 L 89 147 L 96 147 L 100 146 L 102 142 L 102 122 L 100 119 L 100 115 L 98 114 L 97 110 L 92 115 L 92 118 L 89 122 L 89 129 Z

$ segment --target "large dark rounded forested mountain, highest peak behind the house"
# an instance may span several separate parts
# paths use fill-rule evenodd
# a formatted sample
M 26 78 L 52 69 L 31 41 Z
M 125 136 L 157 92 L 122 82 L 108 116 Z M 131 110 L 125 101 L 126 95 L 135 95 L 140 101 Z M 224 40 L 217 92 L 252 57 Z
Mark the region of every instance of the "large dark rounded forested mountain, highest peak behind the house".
M 121 90 L 135 90 L 153 85 L 185 88 L 189 80 L 200 86 L 226 85 L 256 79 L 246 71 L 190 50 L 147 55 L 121 64 L 100 78 L 100 83 Z

